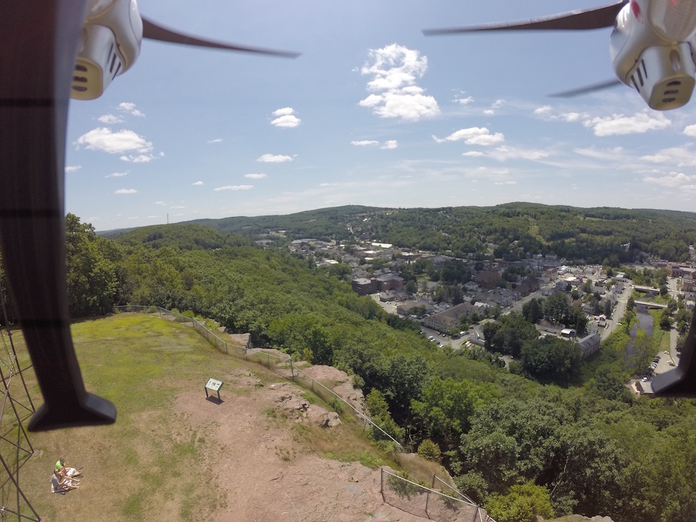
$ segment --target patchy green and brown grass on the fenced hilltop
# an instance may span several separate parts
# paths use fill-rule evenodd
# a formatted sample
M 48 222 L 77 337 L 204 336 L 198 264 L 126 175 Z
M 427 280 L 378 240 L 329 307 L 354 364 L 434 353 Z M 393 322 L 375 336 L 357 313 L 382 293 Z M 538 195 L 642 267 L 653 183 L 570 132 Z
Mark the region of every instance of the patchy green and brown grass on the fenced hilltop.
M 201 400 L 205 400 L 203 385 L 207 379 L 235 369 L 251 369 L 265 385 L 283 379 L 261 365 L 221 354 L 188 326 L 148 315 L 120 314 L 77 322 L 72 335 L 87 390 L 116 404 L 118 418 L 111 426 L 29 434 L 34 453 L 24 459 L 19 484 L 41 519 L 214 519 L 216 510 L 226 507 L 226 493 L 206 480 L 219 448 L 200 427 L 192 427 L 176 411 L 175 398 L 180 392 L 200 390 Z M 29 358 L 22 333 L 15 332 L 13 340 L 24 367 Z M 42 398 L 33 372 L 26 370 L 24 378 L 38 407 Z M 15 400 L 26 402 L 19 377 L 13 379 L 10 389 Z M 248 390 L 232 386 L 224 390 L 248 394 Z M 29 412 L 20 410 L 26 424 Z M 396 467 L 393 459 L 367 441 L 361 423 L 347 416 L 342 416 L 344 425 L 332 434 L 276 418 L 268 409 L 260 409 L 259 414 L 263 422 L 285 422 L 297 451 L 361 461 L 372 468 L 379 464 Z M 12 420 L 6 413 L 2 427 L 6 436 Z M 13 436 L 16 431 L 8 438 Z M 342 441 L 340 445 L 336 438 Z M 3 457 L 13 453 L 7 445 L 0 450 Z M 50 493 L 50 476 L 58 457 L 65 457 L 70 466 L 84 466 L 81 488 L 65 496 Z M 5 473 L 0 469 L 0 474 Z M 3 502 L 13 505 L 14 495 L 14 489 L 6 484 Z M 22 509 L 22 514 L 31 516 L 29 509 Z

